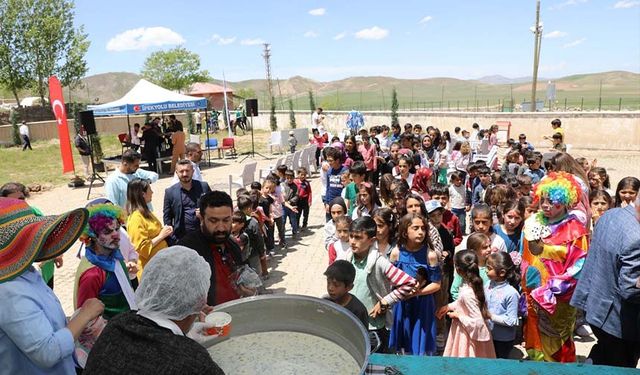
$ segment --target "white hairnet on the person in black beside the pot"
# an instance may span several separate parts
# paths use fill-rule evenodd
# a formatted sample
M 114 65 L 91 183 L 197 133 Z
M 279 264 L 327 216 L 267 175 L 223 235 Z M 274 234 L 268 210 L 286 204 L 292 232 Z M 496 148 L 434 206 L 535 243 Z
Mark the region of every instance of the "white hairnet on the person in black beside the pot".
M 194 250 L 171 246 L 159 251 L 142 271 L 136 290 L 138 309 L 182 320 L 207 303 L 211 268 Z

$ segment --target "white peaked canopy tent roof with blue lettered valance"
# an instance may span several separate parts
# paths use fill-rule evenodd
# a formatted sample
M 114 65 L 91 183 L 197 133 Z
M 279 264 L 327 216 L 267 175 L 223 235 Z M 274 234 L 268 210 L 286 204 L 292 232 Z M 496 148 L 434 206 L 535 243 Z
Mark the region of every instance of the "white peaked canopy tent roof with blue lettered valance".
M 207 108 L 207 99 L 178 94 L 144 79 L 138 81 L 122 98 L 88 107 L 95 116 L 188 111 L 198 108 Z

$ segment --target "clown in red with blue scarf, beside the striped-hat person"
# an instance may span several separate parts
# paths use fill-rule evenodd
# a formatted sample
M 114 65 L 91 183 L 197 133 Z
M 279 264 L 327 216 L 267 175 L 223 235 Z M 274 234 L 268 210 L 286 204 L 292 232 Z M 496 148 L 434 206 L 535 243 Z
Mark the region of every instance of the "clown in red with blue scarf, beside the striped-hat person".
M 120 225 L 125 215 L 122 209 L 112 204 L 88 207 L 89 220 L 80 236 L 86 246 L 76 271 L 74 308 L 82 306 L 88 298 L 98 298 L 105 305 L 103 317 L 135 309 L 133 289 L 127 272 L 134 264 L 125 265 L 119 250 Z

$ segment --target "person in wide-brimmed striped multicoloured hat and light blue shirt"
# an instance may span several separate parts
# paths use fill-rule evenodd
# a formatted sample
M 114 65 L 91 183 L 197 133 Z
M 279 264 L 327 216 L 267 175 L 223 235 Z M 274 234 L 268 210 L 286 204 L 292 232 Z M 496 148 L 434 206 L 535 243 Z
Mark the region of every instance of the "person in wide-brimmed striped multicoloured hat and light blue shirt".
M 102 314 L 88 299 L 67 321 L 60 301 L 33 262 L 71 247 L 87 222 L 80 208 L 36 217 L 22 200 L 0 198 L 0 363 L 7 374 L 74 374 L 74 341 Z

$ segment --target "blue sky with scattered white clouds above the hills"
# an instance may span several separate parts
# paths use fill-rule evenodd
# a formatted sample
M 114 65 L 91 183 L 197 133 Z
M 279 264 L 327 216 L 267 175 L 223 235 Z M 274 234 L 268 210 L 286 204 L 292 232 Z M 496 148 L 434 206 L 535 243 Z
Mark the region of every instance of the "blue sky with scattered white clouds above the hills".
M 533 71 L 535 0 L 76 0 L 88 75 L 140 73 L 154 51 L 197 53 L 216 79 L 332 81 Z M 640 72 L 640 0 L 542 0 L 539 75 Z

